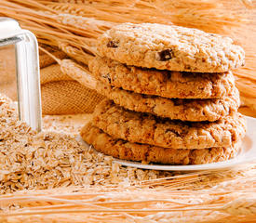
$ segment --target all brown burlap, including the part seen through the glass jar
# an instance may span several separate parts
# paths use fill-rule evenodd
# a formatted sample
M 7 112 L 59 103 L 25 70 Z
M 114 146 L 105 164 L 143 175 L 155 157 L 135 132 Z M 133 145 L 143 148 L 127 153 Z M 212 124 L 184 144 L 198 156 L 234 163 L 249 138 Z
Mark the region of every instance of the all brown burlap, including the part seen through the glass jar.
M 55 56 L 63 59 L 62 52 Z M 102 96 L 74 81 L 61 72 L 60 65 L 46 54 L 40 53 L 41 95 L 43 114 L 74 114 L 93 112 Z M 13 47 L 0 48 L 0 92 L 17 99 L 15 58 Z

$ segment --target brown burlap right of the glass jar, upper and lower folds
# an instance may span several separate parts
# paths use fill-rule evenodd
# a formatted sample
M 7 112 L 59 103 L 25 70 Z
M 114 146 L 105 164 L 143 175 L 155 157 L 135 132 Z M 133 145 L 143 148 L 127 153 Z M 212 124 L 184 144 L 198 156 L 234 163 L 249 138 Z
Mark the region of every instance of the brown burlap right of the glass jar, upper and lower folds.
M 93 112 L 103 98 L 96 91 L 61 72 L 58 63 L 41 69 L 40 83 L 43 114 Z

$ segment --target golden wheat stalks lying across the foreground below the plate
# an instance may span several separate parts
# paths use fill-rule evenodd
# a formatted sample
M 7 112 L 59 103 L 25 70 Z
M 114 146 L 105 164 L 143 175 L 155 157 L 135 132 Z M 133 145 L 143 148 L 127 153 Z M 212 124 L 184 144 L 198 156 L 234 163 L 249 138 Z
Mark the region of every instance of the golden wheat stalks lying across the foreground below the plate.
M 253 166 L 252 166 L 253 167 Z M 161 187 L 159 190 L 129 190 L 103 188 L 88 189 L 62 189 L 47 191 L 27 191 L 27 195 L 7 195 L 0 198 L 0 203 L 5 206 L 11 203 L 21 203 L 22 209 L 2 213 L 3 216 L 12 216 L 13 219 L 26 219 L 24 217 L 41 215 L 42 219 L 52 217 L 52 214 L 71 219 L 71 213 L 79 214 L 81 218 L 87 217 L 93 222 L 101 221 L 100 216 L 109 216 L 110 219 L 126 222 L 128 219 L 135 222 L 253 222 L 255 219 L 255 203 L 253 185 L 255 175 L 251 166 L 249 174 L 237 178 L 231 171 L 224 171 L 219 177 L 236 177 L 228 184 L 218 185 L 207 190 L 197 190 L 200 185 L 190 190 L 172 190 Z M 246 168 L 243 168 L 246 171 Z M 205 174 L 209 174 L 206 172 Z M 200 174 L 188 174 L 187 179 L 196 177 L 201 181 Z M 172 177 L 180 179 L 182 176 Z M 186 178 L 186 177 L 185 177 Z M 245 187 L 247 186 L 247 187 Z M 252 190 L 249 190 L 252 186 Z M 197 187 L 197 188 L 196 188 Z M 225 190 L 223 190 L 225 188 Z M 226 190 L 226 189 L 229 190 Z M 236 189 L 233 192 L 233 188 Z M 174 187 L 175 189 L 175 187 Z M 77 192 L 68 192 L 76 190 Z M 116 192 L 115 192 L 116 191 Z M 61 194 L 62 193 L 62 194 Z M 150 198 L 148 197 L 150 194 Z M 135 199 L 136 198 L 136 199 Z M 196 199 L 199 199 L 197 201 Z M 74 201 L 71 201 L 74 200 Z M 51 203 L 48 203 L 51 201 Z M 26 204 L 27 203 L 27 204 Z M 226 203 L 226 204 L 224 204 Z M 86 204 L 86 205 L 84 205 Z M 90 208 L 87 204 L 101 205 L 101 209 Z M 32 207 L 32 208 L 31 208 Z M 25 215 L 23 215 L 25 213 Z M 91 215 L 94 213 L 94 215 Z M 105 213 L 105 214 L 103 214 Z M 119 214 L 118 214 L 119 213 Z M 128 216 L 120 216 L 126 213 Z M 181 214 L 182 213 L 182 214 Z M 138 216 L 140 214 L 140 216 Z M 115 218 L 116 217 L 116 218 Z M 10 218 L 12 219 L 12 218 Z M 108 218 L 104 218 L 108 219 Z M 43 220 L 42 220 L 43 222 Z

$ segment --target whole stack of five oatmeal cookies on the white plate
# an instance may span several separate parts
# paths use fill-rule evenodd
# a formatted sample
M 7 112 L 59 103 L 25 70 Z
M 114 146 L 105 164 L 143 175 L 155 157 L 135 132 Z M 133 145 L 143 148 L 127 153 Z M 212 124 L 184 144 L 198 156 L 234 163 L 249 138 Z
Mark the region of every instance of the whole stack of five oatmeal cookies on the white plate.
M 231 72 L 244 63 L 232 39 L 160 24 L 118 25 L 89 62 L 106 98 L 81 136 L 116 158 L 209 164 L 234 157 L 245 136 Z

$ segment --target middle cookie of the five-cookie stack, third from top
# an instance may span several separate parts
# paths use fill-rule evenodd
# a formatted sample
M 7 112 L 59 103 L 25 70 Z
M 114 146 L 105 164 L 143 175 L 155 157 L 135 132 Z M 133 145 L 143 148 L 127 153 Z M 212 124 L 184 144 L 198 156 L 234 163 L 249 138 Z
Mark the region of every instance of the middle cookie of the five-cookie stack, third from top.
M 240 105 L 239 92 L 236 87 L 230 96 L 211 99 L 180 99 L 149 96 L 104 85 L 101 82 L 98 82 L 96 87 L 101 95 L 114 100 L 115 104 L 128 110 L 148 112 L 159 117 L 179 119 L 182 121 L 214 122 L 232 112 L 237 112 Z

